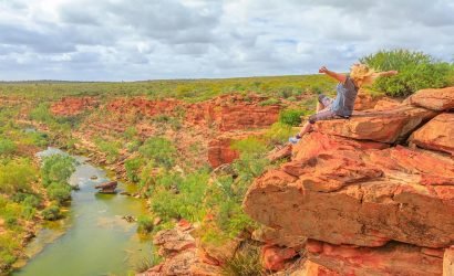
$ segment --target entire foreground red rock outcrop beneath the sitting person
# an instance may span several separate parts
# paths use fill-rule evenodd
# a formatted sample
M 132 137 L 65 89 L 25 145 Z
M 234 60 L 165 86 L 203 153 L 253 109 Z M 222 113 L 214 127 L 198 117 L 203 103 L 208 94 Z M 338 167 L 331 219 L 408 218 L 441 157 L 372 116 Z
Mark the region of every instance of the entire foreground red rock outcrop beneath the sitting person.
M 255 181 L 244 209 L 281 236 L 307 237 L 309 261 L 340 275 L 452 270 L 453 108 L 454 87 L 425 89 L 319 121 L 291 161 Z

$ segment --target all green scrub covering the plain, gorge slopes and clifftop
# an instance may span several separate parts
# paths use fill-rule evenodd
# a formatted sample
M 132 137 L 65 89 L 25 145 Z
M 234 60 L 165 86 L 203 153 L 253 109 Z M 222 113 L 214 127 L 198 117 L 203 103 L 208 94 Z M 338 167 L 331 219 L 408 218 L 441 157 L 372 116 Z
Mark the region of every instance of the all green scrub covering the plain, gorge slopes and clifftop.
M 421 88 L 454 84 L 453 64 L 419 52 L 383 51 L 365 56 L 361 62 L 378 71 L 400 72 L 395 77 L 380 79 L 372 87 L 391 96 L 407 96 Z M 185 219 L 200 224 L 203 242 L 221 244 L 257 226 L 243 212 L 241 201 L 254 179 L 277 166 L 268 162 L 266 153 L 293 134 L 292 127 L 301 123 L 300 117 L 311 113 L 318 93 L 333 93 L 333 88 L 334 82 L 322 75 L 135 83 L 0 83 L 1 96 L 28 103 L 27 119 L 48 128 L 45 132 L 27 131 L 24 126 L 17 124 L 19 115 L 23 115 L 20 104 L 0 107 L 0 267 L 6 269 L 20 255 L 21 244 L 17 236 L 23 237 L 28 225 L 59 219 L 60 208 L 71 198 L 71 187 L 66 181 L 74 171 L 74 160 L 53 156 L 45 158 L 40 166 L 33 160 L 33 153 L 48 145 L 73 150 L 78 141 L 73 131 L 89 114 L 55 117 L 49 109 L 51 102 L 65 96 L 94 96 L 100 100 L 143 96 L 152 99 L 174 97 L 195 103 L 230 93 L 257 93 L 269 96 L 259 104 L 261 106 L 275 105 L 281 99 L 296 103 L 280 113 L 279 121 L 261 138 L 233 144 L 240 157 L 215 172 L 207 164 L 190 166 L 192 160 L 184 160 L 177 145 L 168 137 L 138 137 L 134 126 L 110 137 L 93 137 L 92 142 L 105 155 L 107 163 L 118 161 L 122 152 L 131 155 L 124 162 L 126 181 L 138 185 L 142 197 L 149 200 L 153 214 L 140 217 L 138 231 L 155 233 L 173 226 L 175 220 Z M 299 97 L 303 93 L 313 94 L 313 97 L 301 102 Z M 100 110 L 93 110 L 92 116 L 96 113 L 100 120 L 105 117 Z M 174 117 L 159 115 L 153 121 L 179 131 L 183 117 L 183 114 Z M 194 150 L 197 151 L 197 145 Z M 154 217 L 161 217 L 163 222 L 154 225 Z M 228 269 L 235 270 L 247 264 L 251 267 L 250 275 L 254 275 L 256 263 L 248 254 L 229 262 Z

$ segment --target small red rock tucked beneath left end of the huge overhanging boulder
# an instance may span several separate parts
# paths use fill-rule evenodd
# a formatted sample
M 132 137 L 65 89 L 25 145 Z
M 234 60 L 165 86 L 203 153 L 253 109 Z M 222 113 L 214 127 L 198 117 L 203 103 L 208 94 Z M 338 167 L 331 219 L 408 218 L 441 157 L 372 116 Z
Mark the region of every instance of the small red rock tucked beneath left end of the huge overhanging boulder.
M 282 270 L 286 263 L 297 256 L 293 248 L 285 248 L 276 245 L 265 245 L 261 248 L 261 261 L 264 268 L 268 270 Z

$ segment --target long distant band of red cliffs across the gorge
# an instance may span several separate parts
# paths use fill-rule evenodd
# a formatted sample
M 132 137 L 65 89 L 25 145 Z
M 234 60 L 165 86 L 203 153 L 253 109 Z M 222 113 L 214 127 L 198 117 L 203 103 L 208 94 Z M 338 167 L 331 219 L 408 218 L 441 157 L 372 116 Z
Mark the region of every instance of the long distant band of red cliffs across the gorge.
M 87 117 L 82 124 L 80 140 L 111 131 L 124 132 L 134 127 L 143 138 L 164 135 L 178 141 L 185 159 L 209 162 L 213 168 L 238 158 L 230 148 L 235 140 L 254 136 L 278 120 L 285 104 L 262 106 L 267 99 L 259 95 L 225 95 L 200 103 L 178 99 L 146 99 L 142 97 L 114 98 L 105 104 L 90 97 L 66 97 L 52 105 L 56 116 L 74 116 L 85 110 L 101 113 Z M 164 129 L 159 120 L 177 120 L 179 129 Z M 75 134 L 78 136 L 78 134 Z M 189 148 L 197 146 L 197 151 Z M 89 142 L 84 147 L 90 147 Z M 200 158 L 202 157 L 202 158 Z

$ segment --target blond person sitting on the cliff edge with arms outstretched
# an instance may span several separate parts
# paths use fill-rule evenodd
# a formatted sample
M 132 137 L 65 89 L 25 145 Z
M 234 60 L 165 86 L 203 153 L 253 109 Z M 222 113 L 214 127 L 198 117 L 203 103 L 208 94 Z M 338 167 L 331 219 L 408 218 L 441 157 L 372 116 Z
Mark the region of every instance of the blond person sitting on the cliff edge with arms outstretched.
M 309 117 L 298 135 L 289 139 L 291 144 L 297 144 L 305 134 L 309 132 L 317 120 L 349 118 L 353 113 L 354 100 L 360 87 L 371 85 L 380 76 L 393 76 L 398 74 L 398 71 L 374 72 L 364 64 L 355 63 L 351 66 L 350 74 L 347 75 L 329 71 L 326 66 L 322 66 L 319 73 L 327 74 L 339 82 L 336 87 L 336 98 L 319 95 L 317 113 Z

